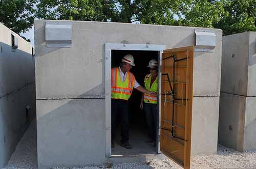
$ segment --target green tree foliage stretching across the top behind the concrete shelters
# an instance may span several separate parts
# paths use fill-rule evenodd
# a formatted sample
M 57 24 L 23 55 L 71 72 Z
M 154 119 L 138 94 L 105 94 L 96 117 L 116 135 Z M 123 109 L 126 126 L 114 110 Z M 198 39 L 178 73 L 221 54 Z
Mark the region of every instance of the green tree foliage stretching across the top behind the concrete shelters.
M 0 20 L 16 33 L 26 32 L 36 13 L 39 19 L 214 27 L 229 35 L 256 31 L 255 7 L 256 0 L 0 0 Z

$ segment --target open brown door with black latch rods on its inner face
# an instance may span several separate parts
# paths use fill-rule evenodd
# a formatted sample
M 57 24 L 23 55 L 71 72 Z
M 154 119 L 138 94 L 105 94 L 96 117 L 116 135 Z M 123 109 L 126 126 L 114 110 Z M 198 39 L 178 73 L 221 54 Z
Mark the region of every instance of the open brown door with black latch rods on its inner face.
M 194 46 L 162 53 L 160 150 L 190 168 Z

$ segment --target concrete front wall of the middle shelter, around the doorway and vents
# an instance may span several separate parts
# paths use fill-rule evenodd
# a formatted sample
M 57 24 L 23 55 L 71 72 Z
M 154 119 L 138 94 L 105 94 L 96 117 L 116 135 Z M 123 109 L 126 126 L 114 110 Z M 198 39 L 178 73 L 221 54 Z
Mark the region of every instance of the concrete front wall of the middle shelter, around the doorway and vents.
M 105 156 L 104 44 L 195 45 L 195 27 L 70 21 L 72 47 L 46 47 L 35 20 L 38 167 L 83 166 Z M 222 31 L 214 52 L 195 52 L 192 154 L 217 152 Z M 136 62 L 136 61 L 135 61 Z

